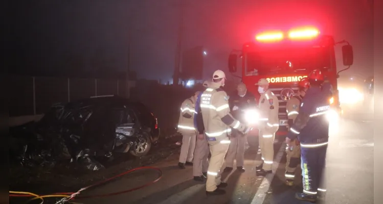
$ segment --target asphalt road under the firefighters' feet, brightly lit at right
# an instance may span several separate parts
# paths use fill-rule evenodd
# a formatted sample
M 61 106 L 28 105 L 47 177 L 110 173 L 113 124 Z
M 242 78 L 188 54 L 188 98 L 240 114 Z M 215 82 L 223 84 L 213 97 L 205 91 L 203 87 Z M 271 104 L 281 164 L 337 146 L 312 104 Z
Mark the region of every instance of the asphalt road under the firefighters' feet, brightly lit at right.
M 327 153 L 327 195 L 320 203 L 373 203 L 373 124 L 366 114 L 345 114 L 339 125 L 331 127 Z M 125 194 L 79 199 L 81 203 L 309 203 L 294 198 L 301 191 L 297 186 L 284 185 L 285 144 L 275 145 L 275 176 L 257 177 L 255 166 L 260 163 L 257 150 L 245 151 L 246 171 L 223 173 L 223 181 L 229 186 L 227 194 L 206 196 L 205 185 L 192 180 L 192 167 L 178 169 L 178 155 L 154 163 L 163 171 L 162 179 L 143 189 Z M 224 165 L 223 167 L 224 168 Z M 298 172 L 299 173 L 299 172 Z M 115 182 L 82 192 L 82 195 L 105 194 L 141 186 L 155 180 L 157 173 L 142 170 L 124 176 Z M 273 179 L 274 177 L 274 179 Z M 297 176 L 298 177 L 298 176 Z

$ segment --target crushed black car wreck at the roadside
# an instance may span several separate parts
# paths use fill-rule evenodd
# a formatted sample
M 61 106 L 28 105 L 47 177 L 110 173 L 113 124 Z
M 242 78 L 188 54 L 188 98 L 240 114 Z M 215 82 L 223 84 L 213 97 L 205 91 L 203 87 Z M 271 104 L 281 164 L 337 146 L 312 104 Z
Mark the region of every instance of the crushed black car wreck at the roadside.
M 160 135 L 145 105 L 115 95 L 55 104 L 40 121 L 10 131 L 10 154 L 22 165 L 69 160 L 92 170 L 116 152 L 145 156 Z

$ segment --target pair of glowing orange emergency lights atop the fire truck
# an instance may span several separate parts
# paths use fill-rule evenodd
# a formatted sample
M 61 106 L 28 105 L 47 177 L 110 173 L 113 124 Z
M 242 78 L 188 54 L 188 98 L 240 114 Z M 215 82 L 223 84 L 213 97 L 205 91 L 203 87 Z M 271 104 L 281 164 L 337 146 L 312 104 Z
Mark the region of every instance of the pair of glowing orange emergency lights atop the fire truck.
M 307 40 L 318 37 L 319 30 L 313 27 L 292 29 L 288 32 L 290 40 Z M 283 32 L 264 32 L 255 36 L 257 41 L 281 41 L 284 38 Z

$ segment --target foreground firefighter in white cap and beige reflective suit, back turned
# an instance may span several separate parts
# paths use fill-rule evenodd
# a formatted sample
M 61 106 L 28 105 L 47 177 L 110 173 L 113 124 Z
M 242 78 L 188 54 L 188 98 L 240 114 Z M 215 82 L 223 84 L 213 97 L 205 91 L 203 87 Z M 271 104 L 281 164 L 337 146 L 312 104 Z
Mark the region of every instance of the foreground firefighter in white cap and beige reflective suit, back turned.
M 220 187 L 224 188 L 228 185 L 221 182 L 219 170 L 229 148 L 230 127 L 241 131 L 243 134 L 249 132 L 251 128 L 241 124 L 230 114 L 229 97 L 221 88 L 226 81 L 224 72 L 216 70 L 212 81 L 210 87 L 201 95 L 200 108 L 211 152 L 206 194 L 219 195 L 226 193 Z

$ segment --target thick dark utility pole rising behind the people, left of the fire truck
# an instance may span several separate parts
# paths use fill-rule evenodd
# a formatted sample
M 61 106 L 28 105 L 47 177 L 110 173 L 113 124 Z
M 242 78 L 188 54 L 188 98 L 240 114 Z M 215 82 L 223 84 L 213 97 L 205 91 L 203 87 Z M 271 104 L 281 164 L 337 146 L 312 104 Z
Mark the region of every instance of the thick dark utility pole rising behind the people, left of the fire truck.
M 181 66 L 181 53 L 182 53 L 182 39 L 183 39 L 183 25 L 184 25 L 184 12 L 185 6 L 184 3 L 179 2 L 179 24 L 178 24 L 178 39 L 175 49 L 175 60 L 174 60 L 174 72 L 173 72 L 173 85 L 178 85 L 179 81 L 179 68 Z

